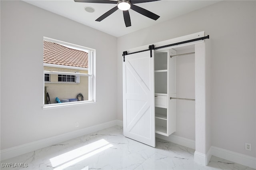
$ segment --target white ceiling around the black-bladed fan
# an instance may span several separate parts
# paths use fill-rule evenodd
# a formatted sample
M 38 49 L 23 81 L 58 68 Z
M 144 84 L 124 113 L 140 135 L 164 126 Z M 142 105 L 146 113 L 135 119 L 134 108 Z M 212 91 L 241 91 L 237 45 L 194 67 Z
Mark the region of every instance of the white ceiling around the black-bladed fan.
M 116 4 L 82 3 L 74 2 L 74 0 L 24 1 L 116 37 L 129 34 L 136 30 L 176 18 L 219 2 L 219 0 L 160 0 L 135 4 L 157 14 L 160 18 L 155 21 L 130 9 L 129 13 L 132 26 L 126 28 L 121 10 L 117 10 L 101 22 L 95 21 L 102 14 L 114 8 Z M 86 12 L 84 10 L 86 6 L 94 8 L 95 12 Z

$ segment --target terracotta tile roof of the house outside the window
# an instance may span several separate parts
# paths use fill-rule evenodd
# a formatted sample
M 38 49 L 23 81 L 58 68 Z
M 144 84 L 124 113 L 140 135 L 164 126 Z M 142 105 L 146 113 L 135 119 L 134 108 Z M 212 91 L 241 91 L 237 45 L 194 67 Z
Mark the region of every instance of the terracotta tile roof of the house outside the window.
M 88 53 L 44 41 L 44 63 L 88 68 Z

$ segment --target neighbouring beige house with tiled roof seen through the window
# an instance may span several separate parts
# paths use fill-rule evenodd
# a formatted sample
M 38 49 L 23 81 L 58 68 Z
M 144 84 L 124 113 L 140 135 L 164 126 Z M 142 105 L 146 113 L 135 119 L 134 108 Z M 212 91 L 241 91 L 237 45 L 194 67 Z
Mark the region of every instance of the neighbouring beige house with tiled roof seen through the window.
M 88 100 L 88 77 L 72 73 L 88 73 L 88 53 L 44 40 L 45 96 L 48 92 L 51 103 L 56 97 L 75 99 L 79 93 Z

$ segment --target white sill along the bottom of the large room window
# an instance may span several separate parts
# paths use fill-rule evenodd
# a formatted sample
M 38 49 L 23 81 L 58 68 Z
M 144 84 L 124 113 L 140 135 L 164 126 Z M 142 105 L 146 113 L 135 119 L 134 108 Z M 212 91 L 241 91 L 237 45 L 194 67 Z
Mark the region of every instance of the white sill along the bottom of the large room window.
M 73 107 L 80 105 L 91 105 L 95 104 L 96 101 L 77 101 L 77 102 L 67 102 L 67 103 L 53 103 L 49 105 L 44 105 L 42 109 L 55 109 L 55 108 L 63 108 L 63 107 Z

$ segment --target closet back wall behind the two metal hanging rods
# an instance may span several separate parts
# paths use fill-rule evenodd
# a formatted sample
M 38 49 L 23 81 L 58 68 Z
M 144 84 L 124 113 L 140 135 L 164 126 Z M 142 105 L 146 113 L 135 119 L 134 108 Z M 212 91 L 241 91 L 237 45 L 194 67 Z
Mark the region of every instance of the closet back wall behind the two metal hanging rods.
M 176 54 L 194 51 L 194 48 L 177 50 Z M 176 97 L 195 99 L 194 54 L 176 57 Z M 195 140 L 195 101 L 176 100 L 176 132 L 173 134 Z

